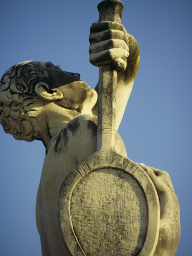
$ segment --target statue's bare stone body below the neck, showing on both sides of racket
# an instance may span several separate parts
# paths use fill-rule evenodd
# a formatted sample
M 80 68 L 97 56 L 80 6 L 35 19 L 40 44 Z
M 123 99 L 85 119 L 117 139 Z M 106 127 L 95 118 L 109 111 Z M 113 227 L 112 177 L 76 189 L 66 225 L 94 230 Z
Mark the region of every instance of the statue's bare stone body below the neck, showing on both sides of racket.
M 120 154 L 126 157 L 118 133 L 115 145 L 122 148 Z M 96 150 L 97 117 L 94 115 L 81 115 L 73 119 L 52 139 L 45 156 L 36 200 L 36 222 L 43 256 L 70 255 L 62 240 L 58 217 L 60 189 L 73 167 Z M 174 255 L 180 240 L 180 209 L 172 182 L 164 171 L 144 164 L 140 164 L 140 167 L 151 178 L 160 200 L 160 233 L 154 255 Z

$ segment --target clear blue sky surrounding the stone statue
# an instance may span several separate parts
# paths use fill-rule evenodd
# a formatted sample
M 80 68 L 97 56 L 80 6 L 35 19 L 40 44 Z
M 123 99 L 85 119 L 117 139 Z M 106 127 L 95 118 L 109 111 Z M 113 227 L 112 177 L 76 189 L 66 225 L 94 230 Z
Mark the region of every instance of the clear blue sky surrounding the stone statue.
M 89 28 L 96 0 L 0 0 L 0 76 L 24 60 L 52 61 L 94 88 Z M 181 208 L 176 255 L 191 255 L 192 2 L 124 0 L 122 23 L 141 64 L 119 128 L 128 157 L 169 172 Z M 0 255 L 41 255 L 35 223 L 43 143 L 16 141 L 0 127 Z

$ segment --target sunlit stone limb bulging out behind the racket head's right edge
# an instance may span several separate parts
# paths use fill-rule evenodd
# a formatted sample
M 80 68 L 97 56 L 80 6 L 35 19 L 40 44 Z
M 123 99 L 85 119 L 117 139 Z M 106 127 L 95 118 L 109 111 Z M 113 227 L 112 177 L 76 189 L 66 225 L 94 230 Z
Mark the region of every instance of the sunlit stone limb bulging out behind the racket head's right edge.
M 174 193 L 169 174 L 152 167 L 139 164 L 155 185 L 160 201 L 160 232 L 155 255 L 175 255 L 180 241 L 180 207 Z

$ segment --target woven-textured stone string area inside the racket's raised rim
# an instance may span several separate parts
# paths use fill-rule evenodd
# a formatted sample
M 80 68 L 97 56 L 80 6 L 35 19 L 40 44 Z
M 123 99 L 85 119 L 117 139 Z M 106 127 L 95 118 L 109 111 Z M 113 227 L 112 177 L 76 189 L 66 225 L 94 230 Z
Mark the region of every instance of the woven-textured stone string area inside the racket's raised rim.
M 137 181 L 124 171 L 103 168 L 85 175 L 74 188 L 70 215 L 86 255 L 137 255 L 143 247 L 147 202 Z

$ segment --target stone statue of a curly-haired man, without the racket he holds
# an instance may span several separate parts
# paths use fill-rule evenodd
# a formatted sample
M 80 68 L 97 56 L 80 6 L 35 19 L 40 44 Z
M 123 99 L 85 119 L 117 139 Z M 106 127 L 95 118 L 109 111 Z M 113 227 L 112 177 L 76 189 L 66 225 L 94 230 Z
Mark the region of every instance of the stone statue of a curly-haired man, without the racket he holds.
M 127 62 L 126 69 L 118 71 L 117 130 L 139 67 L 139 47 L 122 24 L 97 22 L 90 29 L 89 51 L 90 62 L 97 66 L 116 58 Z M 90 89 L 78 73 L 62 71 L 50 62 L 24 61 L 3 74 L 0 89 L 0 122 L 5 132 L 28 142 L 38 139 L 46 147 L 36 200 L 42 253 L 69 255 L 57 216 L 59 192 L 70 170 L 96 151 L 97 86 Z M 140 167 L 151 178 L 160 201 L 154 255 L 174 255 L 180 239 L 180 211 L 172 182 L 164 171 L 144 164 Z

